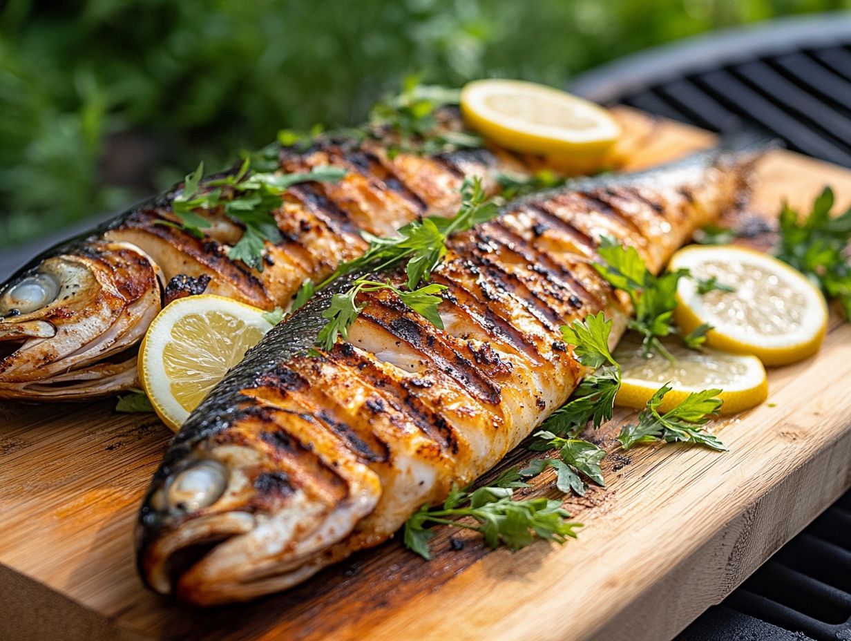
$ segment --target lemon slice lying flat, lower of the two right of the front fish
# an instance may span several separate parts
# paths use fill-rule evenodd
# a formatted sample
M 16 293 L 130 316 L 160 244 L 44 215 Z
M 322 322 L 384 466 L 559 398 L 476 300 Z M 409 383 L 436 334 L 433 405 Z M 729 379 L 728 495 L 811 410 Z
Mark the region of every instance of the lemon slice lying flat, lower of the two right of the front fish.
M 759 358 L 705 349 L 690 350 L 675 343 L 665 347 L 675 362 L 652 353 L 644 356 L 639 341 L 625 339 L 614 352 L 620 363 L 620 390 L 614 403 L 621 407 L 643 409 L 654 392 L 665 383 L 671 392 L 665 394 L 660 411 L 666 412 L 691 392 L 720 388 L 724 404 L 722 414 L 735 414 L 762 403 L 768 397 L 768 379 Z

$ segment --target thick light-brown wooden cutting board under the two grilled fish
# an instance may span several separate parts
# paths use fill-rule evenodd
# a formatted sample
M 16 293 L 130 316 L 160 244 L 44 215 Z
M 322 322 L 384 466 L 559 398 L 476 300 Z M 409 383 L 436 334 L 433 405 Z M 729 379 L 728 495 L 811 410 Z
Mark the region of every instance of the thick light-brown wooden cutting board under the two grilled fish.
M 635 167 L 711 142 L 620 117 Z M 758 177 L 751 213 L 808 205 L 825 183 L 851 200 L 851 172 L 789 152 Z M 170 432 L 111 401 L 2 403 L 0 639 L 671 638 L 851 485 L 851 324 L 834 310 L 824 349 L 769 383 L 768 403 L 714 426 L 723 454 L 622 452 L 613 437 L 634 415 L 618 412 L 594 435 L 611 452 L 608 488 L 568 500 L 585 527 L 563 547 L 492 552 L 443 529 L 431 563 L 391 541 L 290 592 L 207 611 L 146 591 L 134 568 L 136 509 Z M 557 495 L 547 475 L 534 491 Z

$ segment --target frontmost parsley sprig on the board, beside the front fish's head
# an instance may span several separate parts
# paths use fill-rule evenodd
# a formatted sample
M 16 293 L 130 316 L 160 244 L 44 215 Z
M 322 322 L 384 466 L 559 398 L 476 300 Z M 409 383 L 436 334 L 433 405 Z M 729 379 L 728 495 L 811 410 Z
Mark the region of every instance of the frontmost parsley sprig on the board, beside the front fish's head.
M 428 524 L 450 525 L 472 529 L 483 535 L 489 547 L 504 545 L 519 550 L 536 538 L 563 543 L 568 536 L 575 538 L 574 529 L 580 524 L 571 523 L 561 501 L 546 498 L 514 499 L 513 488 L 524 486 L 516 469 L 504 472 L 494 485 L 469 491 L 453 485 L 452 490 L 438 508 L 420 507 L 405 522 L 403 541 L 405 547 L 422 558 L 431 559 L 429 541 L 434 532 Z M 458 518 L 466 520 L 457 520 Z

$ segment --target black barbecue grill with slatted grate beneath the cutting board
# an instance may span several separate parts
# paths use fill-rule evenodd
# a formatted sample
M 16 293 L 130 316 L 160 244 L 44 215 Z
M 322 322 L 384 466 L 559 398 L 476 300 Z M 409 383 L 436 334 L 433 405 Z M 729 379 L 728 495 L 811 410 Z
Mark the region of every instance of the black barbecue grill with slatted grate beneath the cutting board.
M 571 87 L 722 132 L 768 129 L 851 167 L 851 14 L 776 20 L 636 54 Z M 851 492 L 677 641 L 851 641 Z

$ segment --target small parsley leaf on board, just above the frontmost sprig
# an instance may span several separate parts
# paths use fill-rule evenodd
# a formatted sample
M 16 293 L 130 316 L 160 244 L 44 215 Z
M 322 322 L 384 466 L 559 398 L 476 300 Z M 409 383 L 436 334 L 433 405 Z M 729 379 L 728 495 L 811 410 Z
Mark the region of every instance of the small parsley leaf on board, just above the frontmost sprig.
M 600 461 L 603 461 L 606 455 L 604 449 L 579 438 L 562 438 L 546 430 L 536 432 L 535 437 L 538 440 L 534 441 L 529 449 L 557 449 L 560 458 L 536 459 L 520 471 L 521 476 L 534 476 L 540 474 L 546 466 L 551 466 L 557 472 L 556 487 L 563 492 L 573 490 L 580 496 L 585 495 L 585 483 L 580 474 L 591 478 L 600 487 L 605 487 L 603 470 L 600 468 Z

